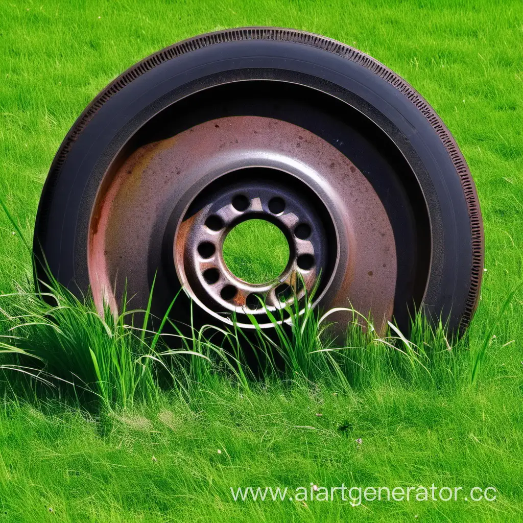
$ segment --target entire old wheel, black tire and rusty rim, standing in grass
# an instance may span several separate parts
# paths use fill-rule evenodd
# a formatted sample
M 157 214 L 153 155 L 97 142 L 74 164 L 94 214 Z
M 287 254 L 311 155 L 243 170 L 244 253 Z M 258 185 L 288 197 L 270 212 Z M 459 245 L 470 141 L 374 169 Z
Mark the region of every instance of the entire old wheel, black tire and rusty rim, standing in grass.
M 278 198 L 287 210 L 271 211 Z M 279 280 L 255 288 L 220 257 L 226 232 L 253 217 L 278 225 L 291 248 Z M 350 303 L 378 330 L 392 318 L 408 328 L 423 308 L 463 332 L 483 243 L 467 164 L 410 85 L 343 43 L 259 27 L 176 43 L 111 82 L 56 153 L 33 247 L 36 278 L 47 263 L 76 294 L 90 288 L 100 311 L 124 295 L 144 308 L 154 286 L 163 316 L 183 287 L 174 319 L 190 320 L 192 299 L 199 323 L 235 312 L 248 327 L 249 312 L 270 327 L 252 295 L 278 309 L 275 287 L 303 296 L 319 279 L 315 305 Z

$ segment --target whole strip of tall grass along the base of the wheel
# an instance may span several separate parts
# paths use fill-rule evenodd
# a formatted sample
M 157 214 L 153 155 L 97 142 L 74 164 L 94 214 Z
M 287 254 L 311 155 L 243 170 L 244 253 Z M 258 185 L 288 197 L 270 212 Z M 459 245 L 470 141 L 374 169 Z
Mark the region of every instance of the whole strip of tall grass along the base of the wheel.
M 250 316 L 254 329 L 249 332 L 234 324 L 193 326 L 183 334 L 169 319 L 170 308 L 156 331 L 147 329 L 151 300 L 144 311 L 124 308 L 118 316 L 106 311 L 102 317 L 92 300 L 79 300 L 56 281 L 43 295 L 18 288 L 0 297 L 0 367 L 7 381 L 18 374 L 24 379 L 15 381 L 31 391 L 35 386 L 65 390 L 108 408 L 152 399 L 165 387 L 189 397 L 193 386 L 223 376 L 245 390 L 260 380 L 331 382 L 348 390 L 390 380 L 442 386 L 462 367 L 444 325 L 433 327 L 418 314 L 410 338 L 392 323 L 379 336 L 353 309 L 320 315 L 313 297 L 311 292 L 304 302 L 294 299 L 286 308 L 286 323 L 266 310 L 271 329 L 262 329 Z M 134 325 L 137 312 L 140 326 Z M 333 313 L 347 315 L 343 335 L 331 322 Z

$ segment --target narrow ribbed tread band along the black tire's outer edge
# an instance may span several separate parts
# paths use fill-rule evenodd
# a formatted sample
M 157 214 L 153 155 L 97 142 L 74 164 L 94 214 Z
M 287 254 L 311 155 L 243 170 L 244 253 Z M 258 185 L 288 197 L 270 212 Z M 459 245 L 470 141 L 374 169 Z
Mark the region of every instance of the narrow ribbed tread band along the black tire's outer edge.
M 270 36 L 270 33 L 273 33 L 273 36 Z M 232 36 L 234 35 L 234 37 Z M 269 35 L 269 36 L 265 36 Z M 283 35 L 283 37 L 281 36 Z M 210 39 L 210 36 L 214 39 L 214 41 L 205 41 L 204 38 Z M 314 38 L 312 38 L 314 37 Z M 472 243 L 473 243 L 473 249 L 472 249 L 472 279 L 471 279 L 471 287 L 469 291 L 466 291 L 464 293 L 465 298 L 465 304 L 463 305 L 463 311 L 461 313 L 462 321 L 460 324 L 461 331 L 463 331 L 464 327 L 467 326 L 467 324 L 471 320 L 471 316 L 476 308 L 477 302 L 479 300 L 479 290 L 481 286 L 481 279 L 483 276 L 483 271 L 481 270 L 483 267 L 483 250 L 484 250 L 484 236 L 483 236 L 483 227 L 482 227 L 482 219 L 481 219 L 481 212 L 479 207 L 479 201 L 477 200 L 477 192 L 473 183 L 473 180 L 470 176 L 470 170 L 467 167 L 467 164 L 464 162 L 463 156 L 461 152 L 459 151 L 456 142 L 452 138 L 450 132 L 446 128 L 445 124 L 441 121 L 441 119 L 434 113 L 434 110 L 431 109 L 431 107 L 426 104 L 425 100 L 414 90 L 412 87 L 403 80 L 403 78 L 396 75 L 394 72 L 392 72 L 388 67 L 381 66 L 381 64 L 373 59 L 372 57 L 366 55 L 365 53 L 362 53 L 354 48 L 351 48 L 350 46 L 336 42 L 333 39 L 329 39 L 327 37 L 323 37 L 321 35 L 313 35 L 313 33 L 300 31 L 300 30 L 294 30 L 294 29 L 282 29 L 282 28 L 267 28 L 267 27 L 251 27 L 251 28 L 237 28 L 237 29 L 228 29 L 228 30 L 221 30 L 221 31 L 215 31 L 211 33 L 206 33 L 206 35 L 200 35 L 196 37 L 189 38 L 183 42 L 178 42 L 173 44 L 172 46 L 169 46 L 165 48 L 162 51 L 158 51 L 149 57 L 145 58 L 141 62 L 131 66 L 126 72 L 124 72 L 122 75 L 120 75 L 115 81 L 112 81 L 105 90 L 103 90 L 99 96 L 97 96 L 93 102 L 85 109 L 85 111 L 82 113 L 81 116 L 78 117 L 75 124 L 72 126 L 70 132 L 66 135 L 64 141 L 62 142 L 62 145 L 60 146 L 58 152 L 56 153 L 53 164 L 51 165 L 50 173 L 48 178 L 46 179 L 46 183 L 44 184 L 44 188 L 42 191 L 42 198 L 40 200 L 40 205 L 38 208 L 38 214 L 37 214 L 37 228 L 35 229 L 35 235 L 33 239 L 33 251 L 35 252 L 35 262 L 33 263 L 33 267 L 35 269 L 35 281 L 37 282 L 37 289 L 38 289 L 38 279 L 43 278 L 46 280 L 46 250 L 48 247 L 48 241 L 46 239 L 48 228 L 46 229 L 46 225 L 49 220 L 49 214 L 50 214 L 50 206 L 47 202 L 50 202 L 52 200 L 53 192 L 56 186 L 56 180 L 58 179 L 58 175 L 62 169 L 63 163 L 65 161 L 65 158 L 67 154 L 70 152 L 72 144 L 75 142 L 78 135 L 82 132 L 83 128 L 85 127 L 86 123 L 96 114 L 98 109 L 103 106 L 108 99 L 111 98 L 112 95 L 116 94 L 121 88 L 128 85 L 134 78 L 137 78 L 138 76 L 144 74 L 146 71 L 149 71 L 152 67 L 155 65 L 158 65 L 160 63 L 163 63 L 165 61 L 168 61 L 175 56 L 178 56 L 180 54 L 184 54 L 187 52 L 190 52 L 191 50 L 200 48 L 200 47 L 207 47 L 210 44 L 214 43 L 220 43 L 221 41 L 231 41 L 227 39 L 235 39 L 235 40 L 247 40 L 247 39 L 269 39 L 269 40 L 277 40 L 281 42 L 288 42 L 288 43 L 301 43 L 309 47 L 313 47 L 316 49 L 323 49 L 326 52 L 332 52 L 338 55 L 341 55 L 343 58 L 345 58 L 347 61 L 353 61 L 356 63 L 361 64 L 361 66 L 365 67 L 366 69 L 370 70 L 377 76 L 380 76 L 384 82 L 387 82 L 389 84 L 392 84 L 394 88 L 397 90 L 400 90 L 402 94 L 405 95 L 405 91 L 407 93 L 412 93 L 408 95 L 408 99 L 411 101 L 413 105 L 416 105 L 418 107 L 419 112 L 421 112 L 425 118 L 428 120 L 429 124 L 433 127 L 434 131 L 439 135 L 440 140 L 442 142 L 442 145 L 446 147 L 448 156 L 454 164 L 454 168 L 457 170 L 460 178 L 461 178 L 461 186 L 462 189 L 465 190 L 467 188 L 468 194 L 465 195 L 465 202 L 467 203 L 468 209 L 469 209 L 469 216 L 470 221 L 468 222 L 470 226 L 470 234 L 472 237 Z M 312 38 L 312 40 L 311 40 Z M 302 39 L 302 40 L 299 40 Z M 194 43 L 193 43 L 194 42 Z M 330 42 L 333 45 L 331 46 L 330 43 L 322 43 L 322 42 Z M 185 47 L 182 47 L 185 46 Z M 377 67 L 376 64 L 380 64 L 380 67 Z M 139 69 L 140 67 L 140 69 Z M 132 73 L 132 75 L 131 75 Z M 265 78 L 268 79 L 268 78 Z M 279 80 L 282 81 L 282 80 Z M 308 88 L 315 88 L 314 86 L 304 84 Z M 344 87 L 342 86 L 342 89 Z M 194 94 L 195 92 L 192 92 L 191 94 Z M 328 94 L 329 96 L 335 95 L 332 92 L 326 92 L 325 94 Z M 405 95 L 406 97 L 406 95 Z M 179 101 L 181 98 L 177 100 L 174 100 L 174 102 Z M 354 110 L 359 109 L 352 104 L 348 103 L 347 100 L 340 98 L 340 100 L 346 104 L 349 105 Z M 419 105 L 421 105 L 421 108 Z M 424 106 L 425 104 L 425 106 Z M 422 110 L 423 109 L 423 110 Z M 360 111 L 361 112 L 361 111 Z M 366 116 L 366 115 L 365 115 Z M 367 117 L 369 118 L 369 117 Z M 369 118 L 369 120 L 372 121 L 373 124 L 379 126 L 379 123 L 374 121 L 372 118 Z M 382 131 L 383 128 L 382 128 Z M 385 131 L 384 131 L 385 132 Z M 393 141 L 393 143 L 395 143 Z M 402 149 L 397 146 L 397 150 L 403 154 Z M 414 171 L 416 174 L 416 172 Z M 423 186 L 422 186 L 423 187 Z M 422 190 L 422 193 L 424 191 Z M 428 217 L 430 218 L 430 213 L 427 213 Z M 56 221 L 56 218 L 53 218 L 54 221 Z M 43 257 L 41 257 L 43 256 Z M 56 269 L 55 263 L 53 261 L 52 267 Z M 53 269 L 53 271 L 54 271 Z M 51 270 L 51 269 L 49 269 Z M 56 269 L 58 270 L 58 269 Z M 65 269 L 65 278 L 69 278 L 69 272 L 70 269 Z M 477 274 L 476 274 L 477 272 Z M 74 271 L 73 271 L 74 274 Z M 58 276 L 58 274 L 56 274 Z M 433 277 L 431 275 L 428 275 L 427 278 L 427 285 L 426 285 L 426 291 L 430 283 L 432 283 L 433 287 L 431 289 L 434 291 L 437 291 L 437 282 L 434 282 L 431 280 Z M 82 278 L 80 280 L 80 283 L 84 285 L 84 282 L 82 282 Z M 71 287 L 71 282 L 65 281 L 65 285 L 68 285 Z M 78 283 L 73 284 L 72 290 L 79 289 L 79 287 L 74 287 L 74 285 L 78 285 Z M 425 298 L 425 297 L 424 297 Z M 439 305 L 439 302 L 438 302 Z M 456 325 L 458 323 L 456 322 Z

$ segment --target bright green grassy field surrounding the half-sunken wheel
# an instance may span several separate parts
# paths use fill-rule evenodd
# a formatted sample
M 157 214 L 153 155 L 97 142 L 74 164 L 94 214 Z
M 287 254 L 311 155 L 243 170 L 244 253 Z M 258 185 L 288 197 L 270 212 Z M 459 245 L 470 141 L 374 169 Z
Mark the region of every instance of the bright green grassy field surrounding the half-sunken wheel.
M 328 353 L 309 354 L 319 342 L 308 327 L 293 345 L 282 341 L 291 372 L 281 382 L 268 372 L 254 384 L 226 372 L 223 361 L 222 372 L 211 372 L 211 362 L 195 357 L 184 380 L 176 374 L 174 386 L 160 390 L 129 356 L 140 338 L 129 341 L 122 325 L 94 320 L 79 305 L 55 311 L 60 332 L 54 324 L 19 327 L 20 343 L 52 354 L 50 370 L 62 365 L 63 379 L 74 371 L 96 381 L 92 354 L 100 363 L 113 357 L 102 370 L 117 361 L 112 377 L 126 366 L 128 379 L 116 392 L 98 380 L 101 407 L 44 387 L 31 399 L 20 380 L 7 386 L 0 521 L 523 521 L 521 290 L 507 303 L 523 279 L 521 2 L 0 0 L 0 196 L 30 238 L 56 149 L 110 79 L 172 42 L 244 25 L 347 42 L 401 74 L 438 111 L 469 162 L 485 222 L 486 272 L 469 336 L 447 350 L 440 334 L 415 329 L 413 343 L 425 347 L 418 361 L 408 344 L 403 354 L 387 350 L 387 339 L 353 333 L 347 359 L 334 365 L 319 359 Z M 30 258 L 2 213 L 0 238 L 0 291 L 27 289 Z M 17 308 L 40 323 L 48 318 L 31 300 L 0 298 L 11 315 L 3 335 L 26 322 L 13 317 Z M 216 354 L 211 344 L 199 348 Z M 343 376 L 331 379 L 336 369 Z M 311 482 L 494 486 L 497 499 L 352 506 L 234 502 L 230 491 Z

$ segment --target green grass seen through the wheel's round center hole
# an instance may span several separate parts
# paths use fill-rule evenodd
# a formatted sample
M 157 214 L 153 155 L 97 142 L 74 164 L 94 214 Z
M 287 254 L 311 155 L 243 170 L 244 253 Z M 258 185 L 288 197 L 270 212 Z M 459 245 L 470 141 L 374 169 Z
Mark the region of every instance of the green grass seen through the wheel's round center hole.
M 223 260 L 236 278 L 247 283 L 275 280 L 289 261 L 289 243 L 267 220 L 246 220 L 236 225 L 223 242 Z

